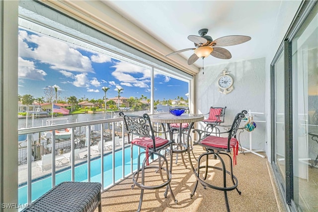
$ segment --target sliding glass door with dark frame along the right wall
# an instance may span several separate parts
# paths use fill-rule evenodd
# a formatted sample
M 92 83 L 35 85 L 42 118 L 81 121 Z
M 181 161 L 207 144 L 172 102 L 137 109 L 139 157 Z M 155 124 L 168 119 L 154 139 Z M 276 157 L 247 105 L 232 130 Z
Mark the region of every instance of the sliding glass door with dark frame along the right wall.
M 318 211 L 318 3 L 304 1 L 272 62 L 272 163 L 291 211 Z

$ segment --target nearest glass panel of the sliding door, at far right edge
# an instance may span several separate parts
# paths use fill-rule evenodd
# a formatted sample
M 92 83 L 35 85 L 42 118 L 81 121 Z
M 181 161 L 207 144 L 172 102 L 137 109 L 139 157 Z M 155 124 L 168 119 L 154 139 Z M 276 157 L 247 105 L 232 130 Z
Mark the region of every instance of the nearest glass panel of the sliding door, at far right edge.
M 318 211 L 318 14 L 292 39 L 294 202 Z

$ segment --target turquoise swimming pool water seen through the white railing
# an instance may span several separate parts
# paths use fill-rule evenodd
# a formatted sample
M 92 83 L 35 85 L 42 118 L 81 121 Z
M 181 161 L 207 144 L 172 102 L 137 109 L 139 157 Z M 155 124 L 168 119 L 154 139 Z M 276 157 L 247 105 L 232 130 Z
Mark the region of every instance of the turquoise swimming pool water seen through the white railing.
M 131 170 L 131 149 L 130 147 L 125 148 L 125 176 L 130 173 Z M 115 181 L 119 180 L 123 176 L 122 169 L 122 150 L 115 152 Z M 133 147 L 133 170 L 137 170 L 137 157 L 138 147 Z M 104 155 L 104 187 L 112 184 L 112 154 Z M 90 182 L 101 183 L 101 163 L 100 157 L 90 161 Z M 64 181 L 71 181 L 71 168 L 57 173 L 55 175 L 56 185 Z M 75 167 L 75 181 L 87 182 L 87 162 Z M 52 177 L 43 178 L 32 183 L 32 202 L 52 188 Z M 21 186 L 18 189 L 18 204 L 27 203 L 27 186 Z

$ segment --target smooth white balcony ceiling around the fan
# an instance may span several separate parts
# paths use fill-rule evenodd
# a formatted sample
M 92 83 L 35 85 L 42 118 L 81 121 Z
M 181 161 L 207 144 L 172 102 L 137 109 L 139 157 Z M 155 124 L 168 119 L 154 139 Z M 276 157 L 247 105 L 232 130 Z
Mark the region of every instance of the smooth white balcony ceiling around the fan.
M 271 37 L 274 36 L 277 14 L 283 9 L 281 0 L 103 2 L 172 51 L 194 47 L 187 37 L 199 35 L 198 30 L 201 28 L 208 28 L 207 35 L 214 40 L 227 35 L 251 37 L 251 40 L 245 43 L 225 47 L 232 54 L 230 60 L 209 56 L 204 60 L 205 66 L 265 57 L 268 46 L 271 45 Z M 186 59 L 192 54 L 192 50 L 180 53 Z M 195 65 L 202 67 L 202 60 L 197 60 Z

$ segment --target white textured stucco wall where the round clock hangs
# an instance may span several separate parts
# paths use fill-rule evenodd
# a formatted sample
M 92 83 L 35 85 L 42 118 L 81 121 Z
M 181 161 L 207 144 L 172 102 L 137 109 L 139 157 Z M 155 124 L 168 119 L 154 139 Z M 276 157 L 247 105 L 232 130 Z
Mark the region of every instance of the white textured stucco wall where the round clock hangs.
M 218 79 L 222 70 L 227 69 L 234 79 L 234 91 L 224 95 L 218 91 Z M 232 124 L 235 115 L 242 109 L 251 112 L 265 111 L 265 58 L 246 60 L 235 63 L 209 66 L 195 76 L 196 112 L 207 113 L 210 106 L 227 106 L 225 123 Z M 256 116 L 255 116 L 256 115 Z M 254 114 L 255 120 L 265 120 L 266 114 Z M 241 125 L 244 125 L 241 122 Z M 256 122 L 252 133 L 253 149 L 265 148 L 265 123 Z M 199 123 L 198 127 L 204 126 Z M 249 132 L 240 134 L 240 143 L 249 148 Z

